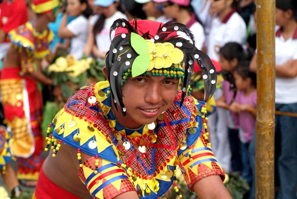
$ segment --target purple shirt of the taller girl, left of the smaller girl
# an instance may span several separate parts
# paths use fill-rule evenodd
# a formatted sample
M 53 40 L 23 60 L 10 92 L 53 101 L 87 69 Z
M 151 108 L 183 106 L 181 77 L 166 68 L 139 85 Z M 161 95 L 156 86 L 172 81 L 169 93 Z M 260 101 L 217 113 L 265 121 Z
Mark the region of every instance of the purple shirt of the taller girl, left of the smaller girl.
M 223 93 L 225 96 L 225 102 L 226 104 L 230 105 L 234 96 L 233 90 L 230 90 L 230 82 L 227 80 L 224 80 L 222 81 L 222 86 L 223 86 Z M 238 116 L 229 110 L 227 111 L 227 115 L 228 115 L 228 128 L 238 129 L 239 128 L 238 119 L 237 119 Z

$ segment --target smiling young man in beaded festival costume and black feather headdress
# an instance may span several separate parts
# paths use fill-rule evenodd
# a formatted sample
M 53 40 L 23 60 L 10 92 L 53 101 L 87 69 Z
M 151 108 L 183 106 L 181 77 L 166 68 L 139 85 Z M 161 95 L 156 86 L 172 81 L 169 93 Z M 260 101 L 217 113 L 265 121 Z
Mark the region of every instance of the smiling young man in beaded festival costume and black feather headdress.
M 33 198 L 160 198 L 171 185 L 182 197 L 180 170 L 199 198 L 231 198 L 211 151 L 205 103 L 188 87 L 198 62 L 205 98 L 214 93 L 210 59 L 178 37 L 185 32 L 195 43 L 181 23 L 118 19 L 115 29 L 108 81 L 82 87 L 48 127 L 50 154 Z

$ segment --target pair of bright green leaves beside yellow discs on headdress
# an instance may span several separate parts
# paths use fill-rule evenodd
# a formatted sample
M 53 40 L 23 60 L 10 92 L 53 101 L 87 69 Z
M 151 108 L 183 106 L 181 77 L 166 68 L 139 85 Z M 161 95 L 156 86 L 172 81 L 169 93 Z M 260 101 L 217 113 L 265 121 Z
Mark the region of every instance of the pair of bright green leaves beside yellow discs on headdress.
M 139 54 L 139 56 L 134 59 L 131 69 L 132 77 L 136 77 L 149 68 L 149 45 L 146 43 L 145 39 L 134 32 L 131 33 L 130 40 L 132 48 Z

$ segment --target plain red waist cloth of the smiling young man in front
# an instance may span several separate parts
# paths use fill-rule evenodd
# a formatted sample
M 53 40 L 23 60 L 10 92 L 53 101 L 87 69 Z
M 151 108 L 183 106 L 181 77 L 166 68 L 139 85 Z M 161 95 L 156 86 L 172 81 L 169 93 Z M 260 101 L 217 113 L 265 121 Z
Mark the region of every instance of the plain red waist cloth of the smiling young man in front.
M 76 195 L 62 189 L 58 185 L 54 184 L 52 181 L 45 176 L 43 168 L 41 167 L 35 192 L 32 199 L 80 199 Z

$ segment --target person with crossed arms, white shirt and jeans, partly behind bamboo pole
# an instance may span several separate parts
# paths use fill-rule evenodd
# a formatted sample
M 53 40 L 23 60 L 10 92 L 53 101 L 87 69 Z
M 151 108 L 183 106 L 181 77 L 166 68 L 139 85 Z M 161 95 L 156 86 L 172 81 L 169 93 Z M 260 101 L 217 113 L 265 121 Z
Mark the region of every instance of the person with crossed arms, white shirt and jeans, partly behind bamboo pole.
M 275 110 L 297 113 L 297 1 L 276 0 Z M 256 71 L 257 54 L 250 69 Z M 277 199 L 296 199 L 297 117 L 275 115 L 276 168 L 279 174 Z

